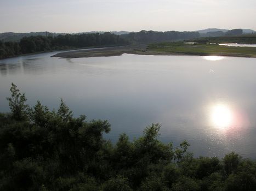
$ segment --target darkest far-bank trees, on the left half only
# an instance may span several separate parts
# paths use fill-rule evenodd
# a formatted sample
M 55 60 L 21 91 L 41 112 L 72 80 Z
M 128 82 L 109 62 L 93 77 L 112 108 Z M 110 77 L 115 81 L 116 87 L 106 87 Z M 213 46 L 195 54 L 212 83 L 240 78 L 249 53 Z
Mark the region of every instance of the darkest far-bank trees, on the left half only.
M 24 37 L 19 42 L 0 40 L 0 59 L 26 53 L 65 50 L 90 46 L 109 46 L 127 44 L 128 41 L 120 35 L 110 32 L 90 34 L 66 34 L 56 37 L 42 35 Z

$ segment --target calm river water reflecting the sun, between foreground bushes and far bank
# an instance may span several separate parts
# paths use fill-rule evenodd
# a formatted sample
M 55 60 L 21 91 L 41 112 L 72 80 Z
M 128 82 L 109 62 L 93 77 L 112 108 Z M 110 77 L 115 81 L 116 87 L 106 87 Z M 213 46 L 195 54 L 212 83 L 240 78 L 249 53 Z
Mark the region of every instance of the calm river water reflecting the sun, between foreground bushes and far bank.
M 60 59 L 42 53 L 0 61 L 0 111 L 9 111 L 10 84 L 58 108 L 60 98 L 87 119 L 109 120 L 107 139 L 138 137 L 161 123 L 160 139 L 184 139 L 195 156 L 235 151 L 256 158 L 256 59 L 140 56 Z

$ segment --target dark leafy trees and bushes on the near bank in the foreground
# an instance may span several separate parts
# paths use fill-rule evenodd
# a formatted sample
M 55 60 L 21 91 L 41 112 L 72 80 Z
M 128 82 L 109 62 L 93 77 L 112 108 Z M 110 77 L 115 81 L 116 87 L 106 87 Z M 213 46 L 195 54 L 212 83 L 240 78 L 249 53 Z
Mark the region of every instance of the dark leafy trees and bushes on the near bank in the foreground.
M 104 139 L 107 121 L 86 121 L 61 99 L 50 111 L 26 104 L 12 84 L 10 112 L 0 114 L 0 190 L 255 190 L 256 162 L 232 152 L 223 159 L 193 157 L 157 139 L 160 124 L 138 139 Z

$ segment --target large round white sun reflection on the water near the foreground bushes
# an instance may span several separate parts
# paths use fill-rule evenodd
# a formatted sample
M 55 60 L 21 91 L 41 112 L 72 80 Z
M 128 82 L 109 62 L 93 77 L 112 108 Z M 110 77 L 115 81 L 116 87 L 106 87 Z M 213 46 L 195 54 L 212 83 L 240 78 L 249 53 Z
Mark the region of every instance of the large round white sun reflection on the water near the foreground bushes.
M 229 127 L 232 122 L 232 112 L 227 105 L 215 105 L 212 108 L 211 120 L 215 127 Z

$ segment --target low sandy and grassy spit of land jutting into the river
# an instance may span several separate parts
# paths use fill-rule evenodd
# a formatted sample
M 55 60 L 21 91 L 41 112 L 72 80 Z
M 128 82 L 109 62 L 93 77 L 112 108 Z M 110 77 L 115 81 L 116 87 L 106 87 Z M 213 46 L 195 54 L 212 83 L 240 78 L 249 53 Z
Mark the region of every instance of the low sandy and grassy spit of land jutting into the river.
M 197 55 L 197 56 L 233 56 L 256 58 L 256 47 L 230 47 L 218 44 L 185 44 L 183 42 L 156 43 L 149 45 L 127 45 L 106 47 L 104 49 L 77 50 L 57 53 L 53 57 L 81 58 L 121 56 L 123 53 L 136 55 Z

